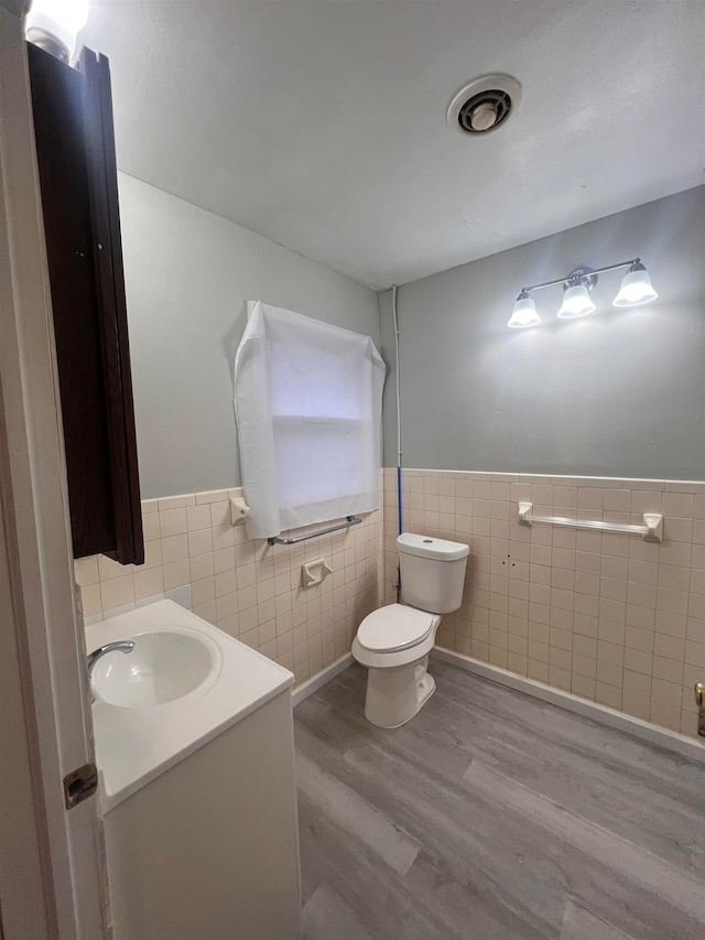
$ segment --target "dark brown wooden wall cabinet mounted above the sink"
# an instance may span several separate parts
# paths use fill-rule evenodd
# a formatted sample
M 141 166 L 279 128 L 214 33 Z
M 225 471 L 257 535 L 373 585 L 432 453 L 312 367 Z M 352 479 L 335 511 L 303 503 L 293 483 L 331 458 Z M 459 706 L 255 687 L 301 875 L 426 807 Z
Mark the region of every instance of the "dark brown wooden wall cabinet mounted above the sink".
M 108 60 L 28 44 L 75 558 L 144 561 Z

